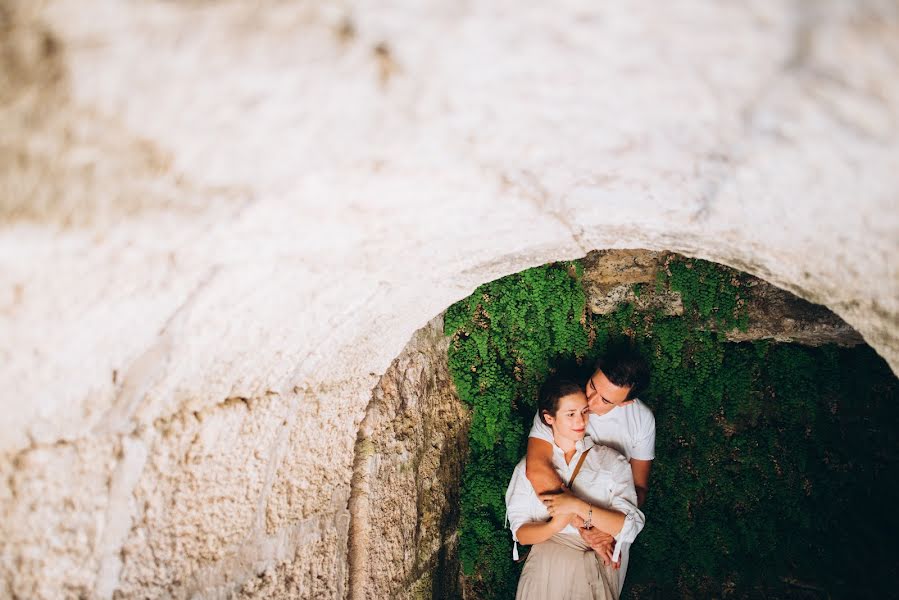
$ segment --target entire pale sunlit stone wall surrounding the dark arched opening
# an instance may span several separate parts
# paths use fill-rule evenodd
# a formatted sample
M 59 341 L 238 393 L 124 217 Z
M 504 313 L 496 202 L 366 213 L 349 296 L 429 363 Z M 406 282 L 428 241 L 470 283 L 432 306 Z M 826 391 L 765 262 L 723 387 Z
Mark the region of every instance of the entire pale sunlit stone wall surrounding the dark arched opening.
M 0 597 L 346 597 L 381 376 L 593 249 L 895 369 L 897 56 L 873 0 L 0 1 Z

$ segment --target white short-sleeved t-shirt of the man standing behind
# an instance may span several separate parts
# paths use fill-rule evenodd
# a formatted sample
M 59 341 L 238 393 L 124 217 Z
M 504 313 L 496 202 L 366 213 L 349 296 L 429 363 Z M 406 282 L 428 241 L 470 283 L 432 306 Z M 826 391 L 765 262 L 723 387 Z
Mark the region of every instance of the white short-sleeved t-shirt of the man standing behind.
M 656 456 L 656 419 L 648 406 L 635 399 L 604 415 L 590 413 L 587 434 L 593 441 L 611 446 L 628 460 L 653 460 Z M 534 415 L 530 437 L 553 443 L 552 429 Z

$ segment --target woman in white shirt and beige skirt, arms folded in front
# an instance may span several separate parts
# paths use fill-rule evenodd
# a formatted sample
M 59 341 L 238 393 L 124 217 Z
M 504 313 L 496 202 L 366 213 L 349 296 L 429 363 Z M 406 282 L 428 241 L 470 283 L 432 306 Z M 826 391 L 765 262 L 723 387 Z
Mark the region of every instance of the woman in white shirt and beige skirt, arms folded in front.
M 617 600 L 618 571 L 602 564 L 576 527 L 596 527 L 614 536 L 612 560 L 619 559 L 621 543 L 632 542 L 643 528 L 630 465 L 615 450 L 585 437 L 587 397 L 576 382 L 547 381 L 537 410 L 552 428 L 553 466 L 567 485 L 561 494 L 538 497 L 525 475 L 525 459 L 515 467 L 506 490 L 513 555 L 517 558 L 517 544 L 533 544 L 515 597 Z

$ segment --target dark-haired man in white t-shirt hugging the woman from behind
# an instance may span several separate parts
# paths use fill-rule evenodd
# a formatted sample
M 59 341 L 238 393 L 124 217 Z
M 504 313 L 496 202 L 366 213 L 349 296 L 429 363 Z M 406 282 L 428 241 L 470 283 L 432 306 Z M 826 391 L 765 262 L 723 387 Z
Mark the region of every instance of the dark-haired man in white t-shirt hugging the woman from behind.
M 613 350 L 596 363 L 585 392 L 590 409 L 587 434 L 594 442 L 614 448 L 631 465 L 637 505 L 649 490 L 649 471 L 655 458 L 655 417 L 637 395 L 649 382 L 649 367 L 629 349 Z M 552 430 L 534 418 L 528 439 L 527 478 L 538 494 L 561 490 L 562 480 L 552 467 Z M 604 562 L 612 559 L 615 540 L 596 530 L 580 530 Z M 621 581 L 627 570 L 629 548 L 621 552 Z

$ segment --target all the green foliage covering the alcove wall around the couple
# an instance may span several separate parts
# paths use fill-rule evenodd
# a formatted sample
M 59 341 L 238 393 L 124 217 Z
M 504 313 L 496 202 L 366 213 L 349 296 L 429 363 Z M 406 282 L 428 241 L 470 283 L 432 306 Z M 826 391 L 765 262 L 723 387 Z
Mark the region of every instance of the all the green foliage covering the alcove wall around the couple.
M 682 294 L 683 317 L 623 305 L 591 318 L 579 278 L 576 263 L 532 269 L 447 312 L 450 368 L 473 408 L 461 552 L 477 597 L 514 596 L 503 493 L 537 387 L 621 337 L 651 362 L 643 399 L 657 422 L 625 595 L 893 595 L 899 398 L 885 363 L 867 347 L 734 344 L 700 329 L 748 324 L 743 278 L 719 265 L 676 258 L 660 272 L 655 287 Z

